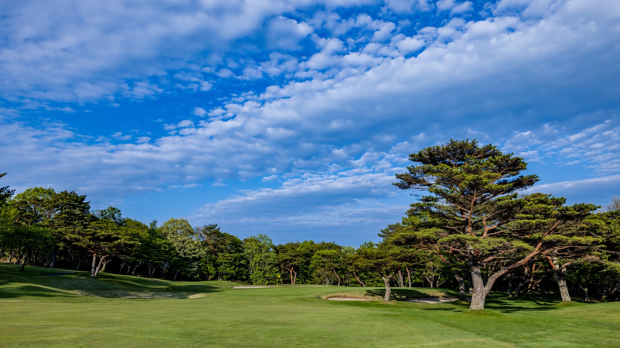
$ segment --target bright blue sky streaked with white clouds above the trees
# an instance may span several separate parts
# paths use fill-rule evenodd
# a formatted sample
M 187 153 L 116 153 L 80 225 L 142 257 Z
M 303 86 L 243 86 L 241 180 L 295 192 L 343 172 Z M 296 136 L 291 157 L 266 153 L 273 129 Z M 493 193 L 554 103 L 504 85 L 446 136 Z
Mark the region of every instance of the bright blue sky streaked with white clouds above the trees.
M 0 3 L 0 183 L 143 222 L 358 246 L 449 139 L 620 196 L 617 0 Z M 420 192 L 416 192 L 420 194 Z

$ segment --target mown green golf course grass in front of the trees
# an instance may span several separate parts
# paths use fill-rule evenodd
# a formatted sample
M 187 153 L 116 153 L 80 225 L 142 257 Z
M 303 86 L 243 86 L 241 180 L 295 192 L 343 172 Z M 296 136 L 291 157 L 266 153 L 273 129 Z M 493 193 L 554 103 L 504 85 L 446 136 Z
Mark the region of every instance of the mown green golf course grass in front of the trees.
M 339 302 L 380 288 L 232 289 L 0 264 L 0 347 L 620 347 L 620 303 L 493 294 L 466 303 Z M 394 289 L 395 297 L 451 290 Z

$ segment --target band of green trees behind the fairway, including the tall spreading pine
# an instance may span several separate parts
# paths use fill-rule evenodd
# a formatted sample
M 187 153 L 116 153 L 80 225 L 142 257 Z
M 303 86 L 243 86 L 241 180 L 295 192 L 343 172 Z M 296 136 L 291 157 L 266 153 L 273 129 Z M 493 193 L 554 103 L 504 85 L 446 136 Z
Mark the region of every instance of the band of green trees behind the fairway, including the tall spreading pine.
M 74 191 L 0 188 L 0 259 L 51 268 L 90 269 L 174 280 L 265 285 L 325 284 L 448 287 L 471 309 L 492 291 L 518 297 L 553 293 L 570 301 L 620 297 L 620 200 L 601 209 L 567 205 L 552 194 L 520 194 L 538 181 L 527 163 L 492 145 L 450 141 L 410 155 L 396 176 L 425 195 L 381 242 L 358 248 L 312 240 L 274 245 L 241 240 L 216 224 L 185 219 L 149 225 L 119 209 L 91 210 Z M 4 174 L 0 175 L 0 178 Z

